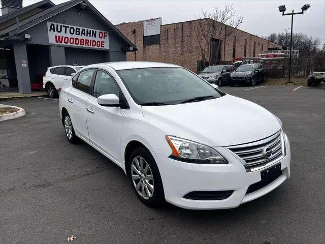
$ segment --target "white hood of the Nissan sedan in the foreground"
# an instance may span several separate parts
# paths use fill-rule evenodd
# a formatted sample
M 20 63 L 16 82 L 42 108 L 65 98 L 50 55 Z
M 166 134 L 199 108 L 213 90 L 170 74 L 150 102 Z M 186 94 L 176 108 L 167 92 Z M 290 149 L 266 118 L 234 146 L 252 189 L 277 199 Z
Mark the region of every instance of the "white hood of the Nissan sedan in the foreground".
M 264 139 L 281 129 L 265 108 L 225 95 L 167 106 L 142 106 L 143 115 L 174 136 L 209 146 L 230 146 Z

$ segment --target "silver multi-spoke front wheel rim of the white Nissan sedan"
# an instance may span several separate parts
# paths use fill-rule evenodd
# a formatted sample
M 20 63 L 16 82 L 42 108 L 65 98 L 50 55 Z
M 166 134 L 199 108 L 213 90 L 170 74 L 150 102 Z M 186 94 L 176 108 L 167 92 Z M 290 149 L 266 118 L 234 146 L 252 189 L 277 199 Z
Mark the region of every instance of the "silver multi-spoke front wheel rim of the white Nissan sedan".
M 131 177 L 136 192 L 140 197 L 148 200 L 154 192 L 154 180 L 151 168 L 147 161 L 137 156 L 131 164 Z

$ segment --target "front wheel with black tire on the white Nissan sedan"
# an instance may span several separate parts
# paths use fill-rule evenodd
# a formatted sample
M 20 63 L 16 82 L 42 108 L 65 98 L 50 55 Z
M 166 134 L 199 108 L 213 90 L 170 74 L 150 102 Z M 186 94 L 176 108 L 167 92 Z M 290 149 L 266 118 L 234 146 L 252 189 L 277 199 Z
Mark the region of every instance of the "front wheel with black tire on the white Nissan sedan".
M 131 185 L 138 198 L 150 207 L 163 204 L 165 202 L 163 182 L 149 150 L 145 147 L 136 148 L 128 163 Z

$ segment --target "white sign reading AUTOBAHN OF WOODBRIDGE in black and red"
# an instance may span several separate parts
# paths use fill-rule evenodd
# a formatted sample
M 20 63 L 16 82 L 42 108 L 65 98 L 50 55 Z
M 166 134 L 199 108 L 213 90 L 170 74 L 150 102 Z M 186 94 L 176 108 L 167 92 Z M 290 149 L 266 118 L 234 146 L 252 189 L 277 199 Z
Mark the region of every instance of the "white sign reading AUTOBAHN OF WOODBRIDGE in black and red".
M 109 49 L 108 32 L 74 25 L 47 22 L 49 43 Z

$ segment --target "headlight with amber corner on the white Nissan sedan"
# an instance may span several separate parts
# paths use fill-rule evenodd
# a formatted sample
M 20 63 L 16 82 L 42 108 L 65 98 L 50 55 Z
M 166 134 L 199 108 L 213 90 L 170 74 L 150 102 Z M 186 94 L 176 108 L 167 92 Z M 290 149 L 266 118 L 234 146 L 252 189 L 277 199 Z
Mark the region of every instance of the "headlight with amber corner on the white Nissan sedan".
M 197 164 L 228 164 L 225 158 L 209 146 L 174 136 L 165 138 L 172 149 L 170 158 Z

